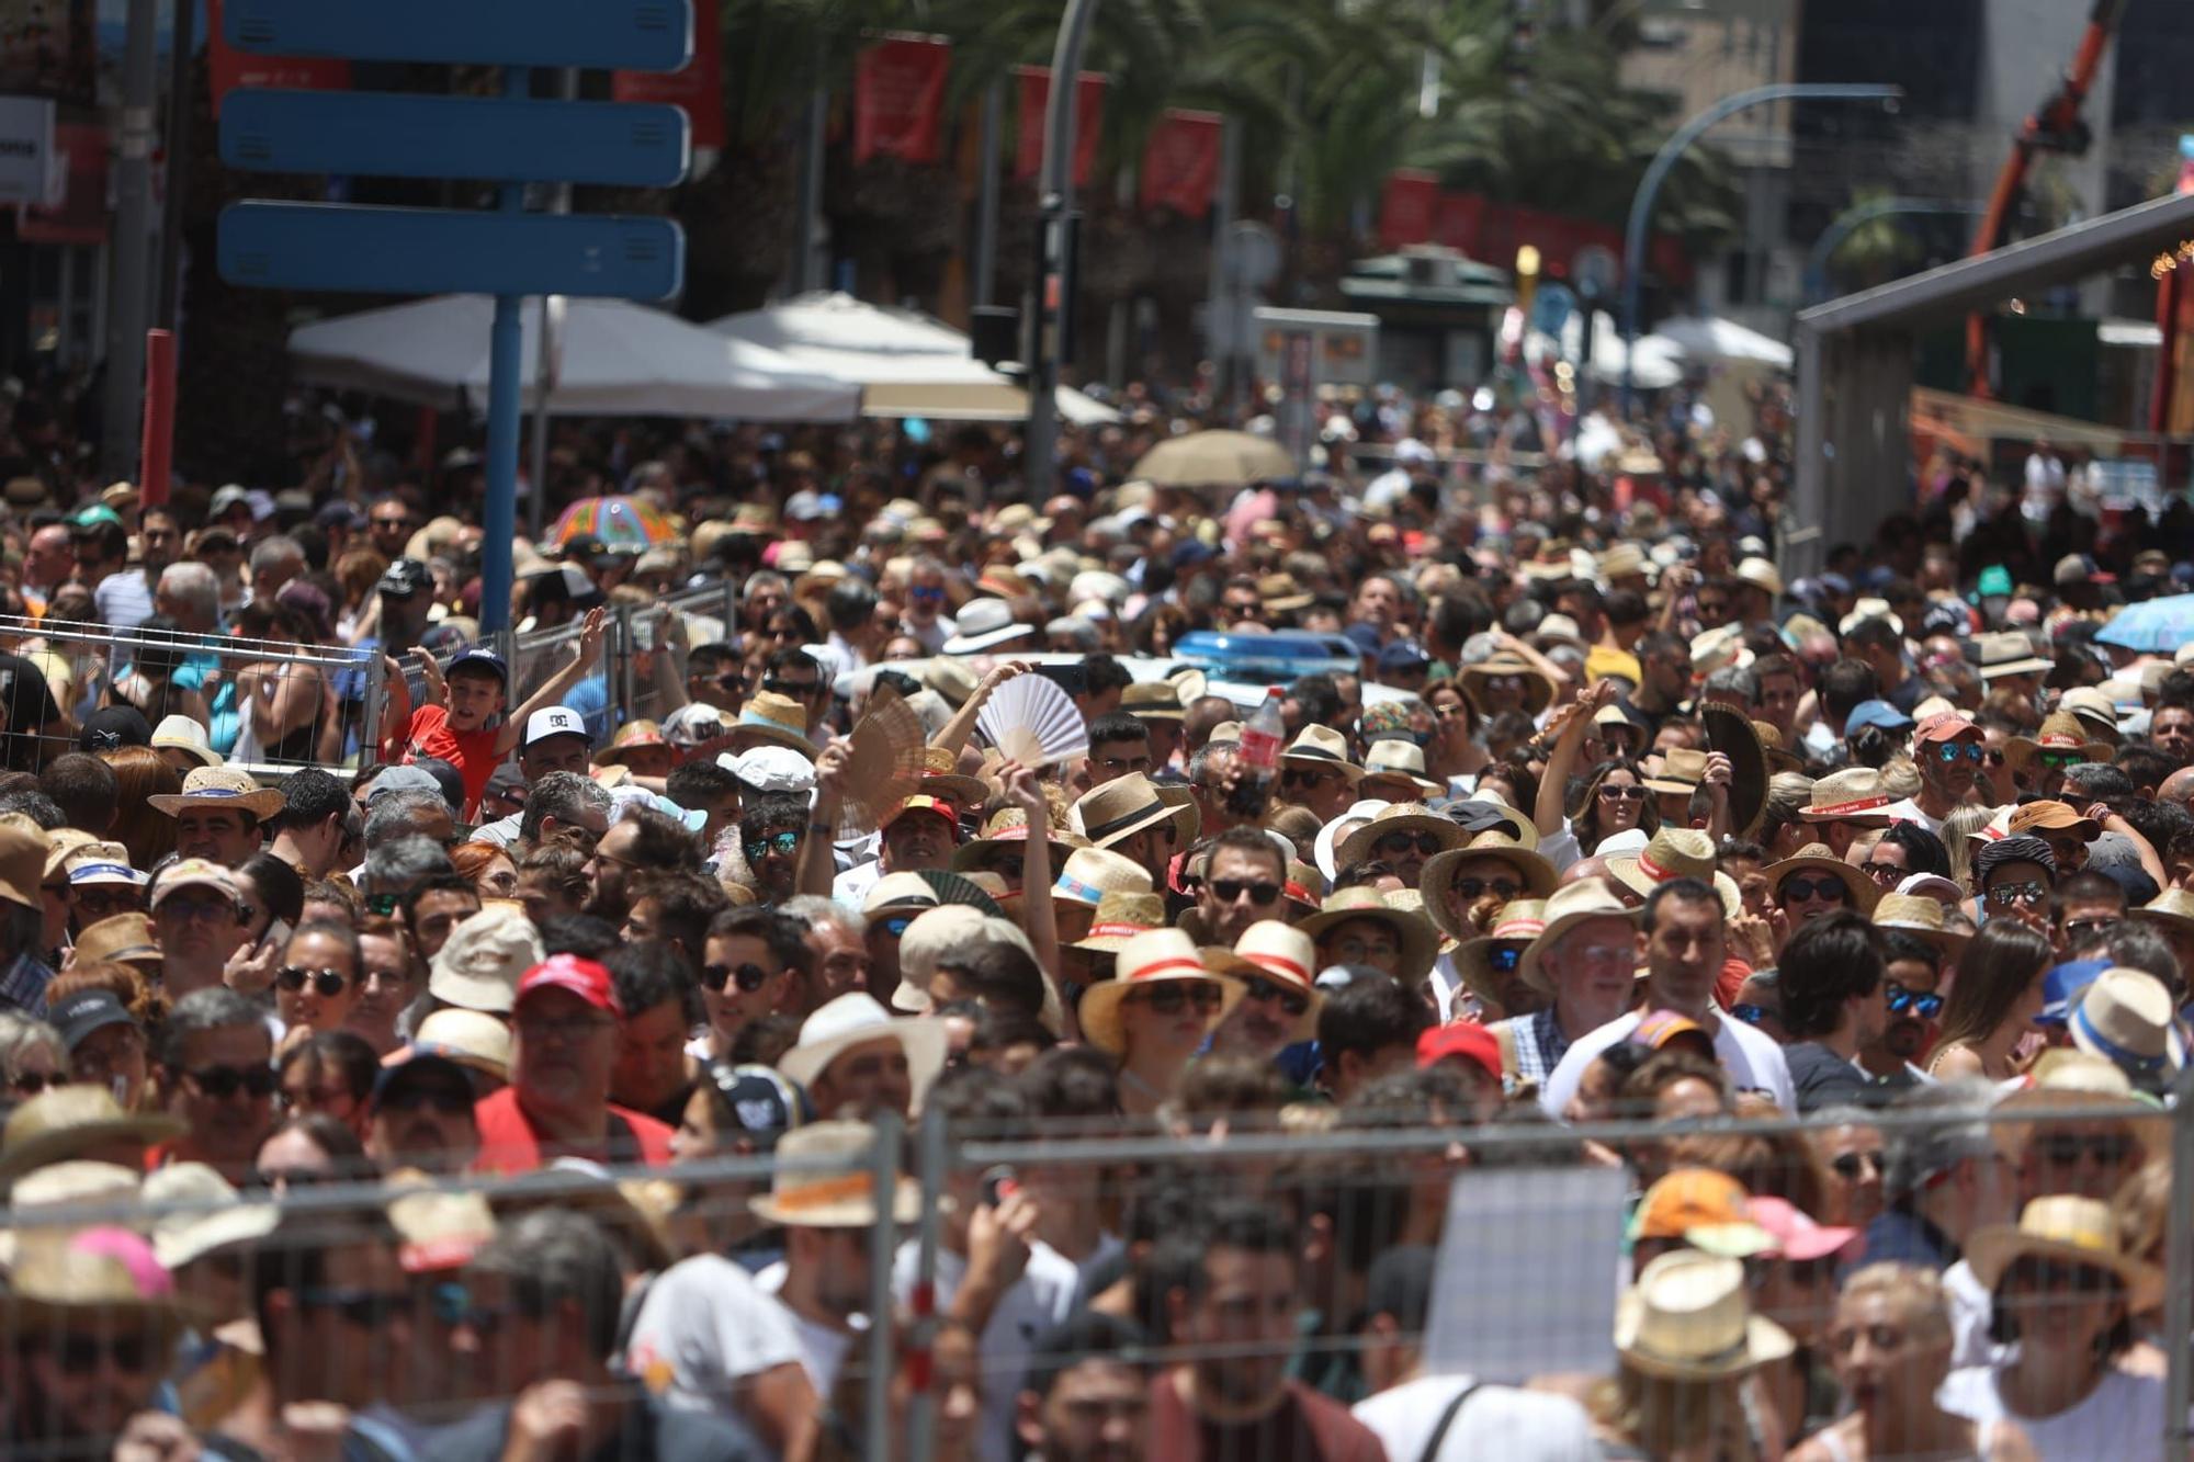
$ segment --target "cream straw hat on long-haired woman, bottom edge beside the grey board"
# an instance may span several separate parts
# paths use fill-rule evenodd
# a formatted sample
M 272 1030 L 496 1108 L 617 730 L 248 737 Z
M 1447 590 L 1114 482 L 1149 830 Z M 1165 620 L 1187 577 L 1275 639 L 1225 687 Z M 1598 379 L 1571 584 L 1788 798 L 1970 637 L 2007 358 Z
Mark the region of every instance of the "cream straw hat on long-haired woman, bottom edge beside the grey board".
M 1676 1249 L 1646 1264 L 1615 1304 L 1615 1350 L 1624 1363 L 1670 1381 L 1742 1376 L 1797 1348 L 1790 1332 L 1751 1313 L 1744 1264 Z

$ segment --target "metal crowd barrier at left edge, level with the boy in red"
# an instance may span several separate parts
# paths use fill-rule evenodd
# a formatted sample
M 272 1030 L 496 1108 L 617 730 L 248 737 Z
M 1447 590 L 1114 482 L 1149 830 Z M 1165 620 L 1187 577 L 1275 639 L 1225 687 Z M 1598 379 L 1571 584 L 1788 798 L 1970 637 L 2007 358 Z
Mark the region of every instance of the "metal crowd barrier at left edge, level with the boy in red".
M 59 709 L 59 720 L 46 727 L 15 724 L 37 702 L 0 687 L 0 713 L 9 718 L 0 760 L 9 771 L 35 773 L 77 751 L 77 724 L 101 705 L 136 702 L 132 694 L 143 696 L 138 709 L 154 727 L 171 713 L 204 720 L 213 749 L 261 779 L 301 766 L 355 766 L 362 751 L 371 755 L 380 729 L 384 665 L 364 650 L 13 615 L 0 615 L 0 648 L 31 661 Z M 156 687 L 138 678 L 147 670 L 165 670 Z M 276 707 L 290 698 L 285 691 L 312 709 L 270 740 L 248 713 L 255 700 Z

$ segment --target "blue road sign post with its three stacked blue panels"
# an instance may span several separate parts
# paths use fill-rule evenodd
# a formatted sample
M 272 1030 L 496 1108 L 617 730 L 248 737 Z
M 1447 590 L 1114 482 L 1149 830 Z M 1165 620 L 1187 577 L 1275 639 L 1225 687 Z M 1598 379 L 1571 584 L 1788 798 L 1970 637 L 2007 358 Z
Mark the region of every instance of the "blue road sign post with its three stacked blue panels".
M 222 277 L 239 285 L 496 299 L 480 634 L 502 637 L 527 296 L 656 301 L 685 283 L 674 220 L 527 213 L 529 182 L 676 184 L 691 151 L 685 114 L 533 101 L 533 68 L 678 70 L 693 50 L 693 0 L 228 0 L 222 20 L 228 42 L 257 55 L 502 66 L 500 99 L 241 90 L 222 110 L 230 167 L 480 178 L 498 184 L 494 211 L 237 202 L 219 239 Z

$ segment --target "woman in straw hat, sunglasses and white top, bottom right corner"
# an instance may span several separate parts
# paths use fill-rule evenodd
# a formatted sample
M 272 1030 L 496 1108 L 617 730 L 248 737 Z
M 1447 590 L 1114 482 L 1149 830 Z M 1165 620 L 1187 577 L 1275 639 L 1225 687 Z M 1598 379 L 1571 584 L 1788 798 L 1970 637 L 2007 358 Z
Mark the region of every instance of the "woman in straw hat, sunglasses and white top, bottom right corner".
M 1972 1234 L 1966 1262 L 1988 1286 L 1990 1339 L 2003 1350 L 1950 1372 L 1942 1405 L 1983 1425 L 2014 1420 L 2043 1462 L 2161 1462 L 2163 1372 L 2124 1357 L 2133 1315 L 2157 1302 L 2163 1275 L 2124 1251 L 2111 1205 L 2034 1199 L 2016 1225 Z

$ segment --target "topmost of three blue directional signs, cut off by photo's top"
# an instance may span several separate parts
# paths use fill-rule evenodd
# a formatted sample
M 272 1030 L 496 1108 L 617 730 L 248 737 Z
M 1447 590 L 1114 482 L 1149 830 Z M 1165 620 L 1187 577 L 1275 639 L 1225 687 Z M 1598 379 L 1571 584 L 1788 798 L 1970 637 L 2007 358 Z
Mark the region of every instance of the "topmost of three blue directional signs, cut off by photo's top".
M 678 70 L 693 46 L 689 0 L 228 0 L 222 20 L 250 55 L 364 61 Z

